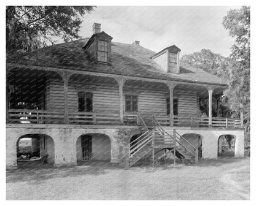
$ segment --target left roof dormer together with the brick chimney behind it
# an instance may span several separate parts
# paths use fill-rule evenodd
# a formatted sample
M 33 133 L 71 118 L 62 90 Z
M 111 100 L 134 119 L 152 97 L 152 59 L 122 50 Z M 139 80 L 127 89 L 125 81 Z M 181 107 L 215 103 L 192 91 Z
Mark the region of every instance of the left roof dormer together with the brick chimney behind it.
M 111 61 L 111 40 L 113 37 L 100 32 L 100 24 L 94 23 L 94 34 L 83 47 L 89 52 L 90 59 L 95 62 L 110 63 Z

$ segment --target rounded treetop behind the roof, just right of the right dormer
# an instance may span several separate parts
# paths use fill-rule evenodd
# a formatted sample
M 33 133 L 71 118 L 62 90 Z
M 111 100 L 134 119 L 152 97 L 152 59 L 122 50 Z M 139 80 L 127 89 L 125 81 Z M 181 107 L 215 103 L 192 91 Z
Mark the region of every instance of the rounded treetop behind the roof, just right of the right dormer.
M 225 58 L 222 55 L 204 48 L 201 52 L 194 52 L 190 55 L 182 56 L 180 61 L 203 69 L 210 74 L 217 75 L 218 67 L 224 59 Z

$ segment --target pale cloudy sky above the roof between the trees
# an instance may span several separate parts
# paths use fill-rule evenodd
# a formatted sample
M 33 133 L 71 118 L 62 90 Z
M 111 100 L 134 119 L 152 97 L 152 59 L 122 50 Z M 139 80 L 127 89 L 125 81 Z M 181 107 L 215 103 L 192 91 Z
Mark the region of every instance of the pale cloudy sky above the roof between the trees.
M 223 56 L 230 55 L 234 38 L 228 35 L 223 17 L 226 6 L 98 6 L 84 15 L 79 35 L 92 36 L 92 25 L 102 24 L 102 31 L 113 37 L 113 42 L 140 45 L 159 52 L 176 45 L 180 55 L 210 49 Z

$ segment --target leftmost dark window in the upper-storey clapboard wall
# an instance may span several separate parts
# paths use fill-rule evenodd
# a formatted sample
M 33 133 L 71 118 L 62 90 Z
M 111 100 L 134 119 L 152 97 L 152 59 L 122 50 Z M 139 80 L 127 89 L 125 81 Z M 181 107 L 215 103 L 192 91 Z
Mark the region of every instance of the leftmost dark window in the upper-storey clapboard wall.
M 92 93 L 78 92 L 78 112 L 92 112 Z

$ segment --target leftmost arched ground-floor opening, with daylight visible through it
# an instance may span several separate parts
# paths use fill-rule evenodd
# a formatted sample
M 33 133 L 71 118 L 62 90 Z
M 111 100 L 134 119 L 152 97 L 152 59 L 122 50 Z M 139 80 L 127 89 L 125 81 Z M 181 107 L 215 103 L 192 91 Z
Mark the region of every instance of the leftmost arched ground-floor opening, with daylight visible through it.
M 54 140 L 46 134 L 25 134 L 17 140 L 18 167 L 54 164 Z

